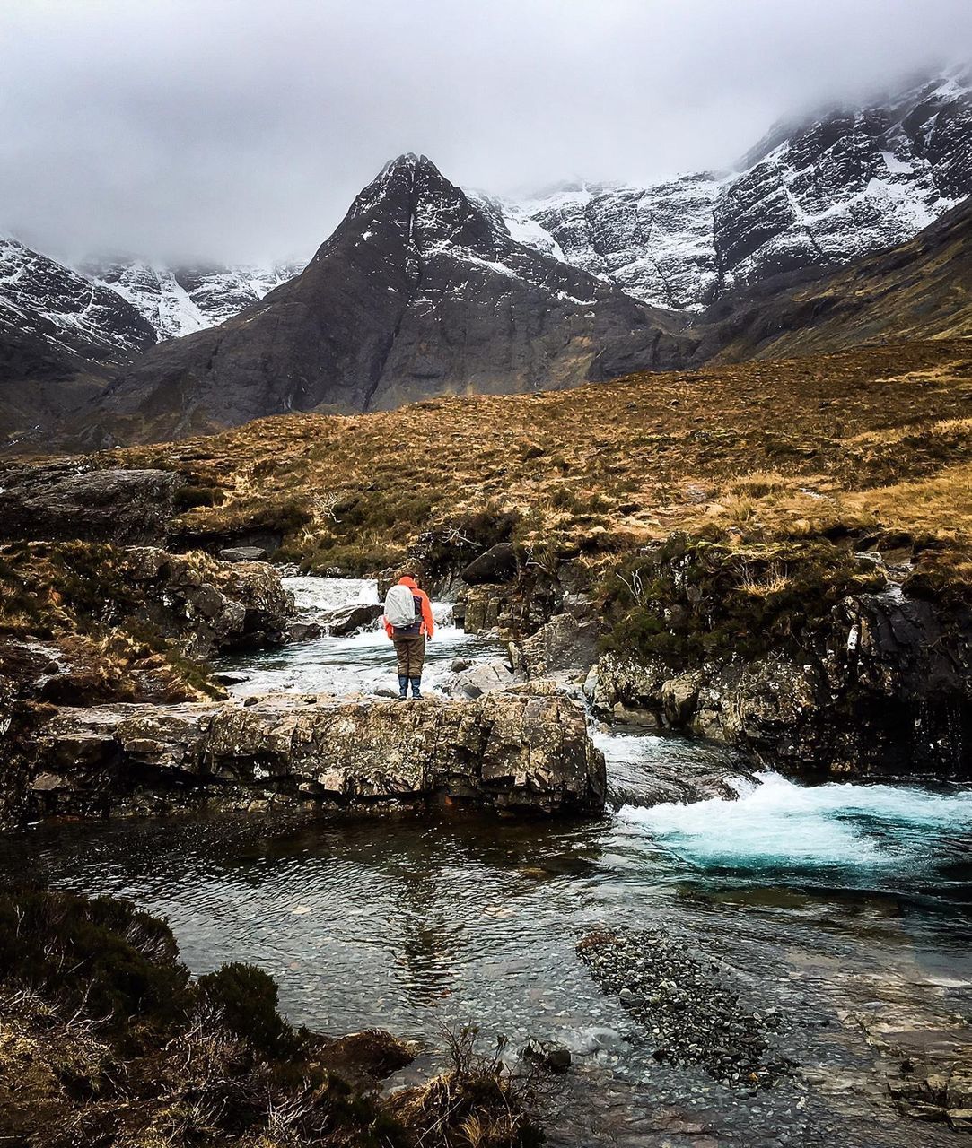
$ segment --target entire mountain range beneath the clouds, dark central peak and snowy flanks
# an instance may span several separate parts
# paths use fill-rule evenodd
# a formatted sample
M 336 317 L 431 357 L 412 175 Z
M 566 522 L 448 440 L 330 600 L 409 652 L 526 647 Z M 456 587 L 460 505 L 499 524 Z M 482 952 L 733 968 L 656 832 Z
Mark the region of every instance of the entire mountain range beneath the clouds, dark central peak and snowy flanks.
M 11 240 L 3 428 L 39 435 L 70 417 L 85 441 L 178 436 L 291 410 L 573 386 L 728 344 L 746 357 L 766 341 L 765 324 L 742 319 L 751 307 L 799 326 L 805 309 L 778 292 L 910 242 L 970 191 L 966 68 L 777 127 L 739 171 L 645 187 L 565 183 L 515 201 L 464 192 L 407 154 L 303 270 L 75 270 Z M 931 331 L 921 289 L 904 297 L 917 321 L 882 313 Z M 840 339 L 887 327 L 875 313 Z M 70 401 L 37 389 L 34 411 L 31 380 L 54 378 L 85 385 Z

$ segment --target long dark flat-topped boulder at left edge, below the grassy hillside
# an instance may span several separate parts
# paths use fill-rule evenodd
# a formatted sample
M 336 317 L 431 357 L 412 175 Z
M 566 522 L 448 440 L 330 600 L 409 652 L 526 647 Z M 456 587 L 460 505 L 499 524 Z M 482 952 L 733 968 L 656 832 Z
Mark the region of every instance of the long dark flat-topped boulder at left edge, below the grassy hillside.
M 171 471 L 10 468 L 0 476 L 0 540 L 161 542 L 180 482 Z

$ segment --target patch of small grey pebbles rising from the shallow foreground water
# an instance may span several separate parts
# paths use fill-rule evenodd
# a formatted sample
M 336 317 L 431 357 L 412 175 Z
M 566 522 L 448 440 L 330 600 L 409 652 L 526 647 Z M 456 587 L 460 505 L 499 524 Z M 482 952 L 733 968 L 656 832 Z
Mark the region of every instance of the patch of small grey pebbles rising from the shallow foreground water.
M 700 1065 L 720 1084 L 756 1088 L 790 1066 L 773 1054 L 777 1009 L 740 1002 L 719 964 L 664 930 L 597 931 L 577 951 L 602 992 L 638 1022 L 633 1044 L 657 1061 Z

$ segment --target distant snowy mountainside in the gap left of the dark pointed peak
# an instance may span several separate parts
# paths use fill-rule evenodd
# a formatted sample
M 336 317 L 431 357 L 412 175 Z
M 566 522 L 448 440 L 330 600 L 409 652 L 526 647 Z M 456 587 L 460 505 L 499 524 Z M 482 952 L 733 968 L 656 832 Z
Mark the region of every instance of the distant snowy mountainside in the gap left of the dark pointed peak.
M 168 267 L 141 259 L 111 259 L 88 261 L 82 270 L 136 307 L 162 341 L 225 323 L 293 279 L 303 263 Z

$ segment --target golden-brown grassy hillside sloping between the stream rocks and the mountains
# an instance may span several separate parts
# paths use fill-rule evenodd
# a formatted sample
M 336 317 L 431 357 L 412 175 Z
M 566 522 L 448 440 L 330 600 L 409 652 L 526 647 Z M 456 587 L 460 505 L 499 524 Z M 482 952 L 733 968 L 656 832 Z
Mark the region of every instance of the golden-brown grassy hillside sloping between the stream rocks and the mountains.
M 676 529 L 745 548 L 853 536 L 950 556 L 972 527 L 972 343 L 940 340 L 531 396 L 283 416 L 97 456 L 184 473 L 187 541 L 277 529 L 375 571 L 429 528 L 597 565 Z

